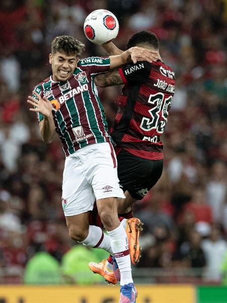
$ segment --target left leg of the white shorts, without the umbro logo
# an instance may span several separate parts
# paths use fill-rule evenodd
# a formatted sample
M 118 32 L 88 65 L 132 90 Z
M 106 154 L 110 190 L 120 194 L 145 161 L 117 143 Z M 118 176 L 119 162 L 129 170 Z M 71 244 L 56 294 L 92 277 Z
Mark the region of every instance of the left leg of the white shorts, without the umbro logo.
M 62 206 L 66 217 L 92 210 L 95 200 L 92 186 L 84 175 L 84 164 L 76 155 L 66 158 L 63 173 Z

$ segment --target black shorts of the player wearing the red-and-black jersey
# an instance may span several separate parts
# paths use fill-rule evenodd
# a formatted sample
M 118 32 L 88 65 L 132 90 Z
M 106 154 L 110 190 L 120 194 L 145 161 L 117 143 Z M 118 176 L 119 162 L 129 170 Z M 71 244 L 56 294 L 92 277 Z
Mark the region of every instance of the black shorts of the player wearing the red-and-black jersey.
M 148 160 L 121 149 L 117 156 L 118 177 L 123 191 L 141 200 L 162 174 L 163 160 Z

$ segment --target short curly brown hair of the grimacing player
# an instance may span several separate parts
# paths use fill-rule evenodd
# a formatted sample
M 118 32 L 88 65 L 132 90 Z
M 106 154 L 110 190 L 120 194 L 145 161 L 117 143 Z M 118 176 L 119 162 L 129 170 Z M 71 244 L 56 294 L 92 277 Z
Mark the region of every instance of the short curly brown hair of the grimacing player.
M 71 36 L 55 37 L 51 43 L 51 53 L 64 52 L 67 55 L 80 55 L 84 51 L 85 45 Z

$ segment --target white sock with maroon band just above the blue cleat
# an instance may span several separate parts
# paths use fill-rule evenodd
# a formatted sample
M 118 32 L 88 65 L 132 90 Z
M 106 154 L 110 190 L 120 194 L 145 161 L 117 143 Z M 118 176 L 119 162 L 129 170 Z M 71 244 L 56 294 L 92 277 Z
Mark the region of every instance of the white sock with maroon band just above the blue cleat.
M 121 273 L 120 284 L 133 283 L 128 237 L 123 225 L 120 224 L 119 227 L 107 231 L 107 233 L 110 237 L 111 248 Z

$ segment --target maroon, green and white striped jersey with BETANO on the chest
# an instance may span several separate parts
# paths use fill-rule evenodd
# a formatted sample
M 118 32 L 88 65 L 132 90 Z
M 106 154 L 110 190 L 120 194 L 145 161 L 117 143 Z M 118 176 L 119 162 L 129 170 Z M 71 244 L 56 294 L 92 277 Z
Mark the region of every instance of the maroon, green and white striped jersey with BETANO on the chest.
M 109 142 L 104 109 L 93 78 L 109 71 L 108 57 L 91 57 L 78 62 L 72 77 L 56 82 L 52 77 L 35 87 L 35 91 L 51 102 L 56 132 L 66 156 L 87 144 Z M 38 121 L 43 116 L 37 114 Z

